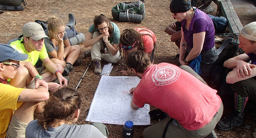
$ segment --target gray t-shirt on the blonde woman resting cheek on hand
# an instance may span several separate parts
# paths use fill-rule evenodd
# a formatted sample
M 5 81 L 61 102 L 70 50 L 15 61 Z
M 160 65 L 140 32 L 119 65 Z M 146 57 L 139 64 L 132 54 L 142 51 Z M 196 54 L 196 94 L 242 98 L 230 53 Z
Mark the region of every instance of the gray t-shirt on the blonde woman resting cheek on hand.
M 50 38 L 50 36 L 49 36 L 49 34 L 48 34 L 48 29 L 45 30 L 45 35 Z M 51 56 L 49 55 L 49 53 L 50 53 L 50 52 L 53 52 L 54 50 L 58 51 L 59 45 L 57 45 L 57 46 L 55 47 L 54 44 L 53 44 L 53 41 L 52 41 L 51 39 L 49 39 L 49 38 L 45 37 L 45 42 L 44 42 L 44 43 L 45 43 L 45 48 L 46 48 L 46 51 L 47 51 L 47 53 L 48 53 L 48 56 L 49 56 L 49 58 L 51 58 Z M 67 33 L 64 33 L 64 36 L 63 36 L 62 39 L 63 39 L 63 40 L 67 40 L 67 39 L 68 39 Z M 65 48 L 65 46 L 64 46 L 64 48 Z

